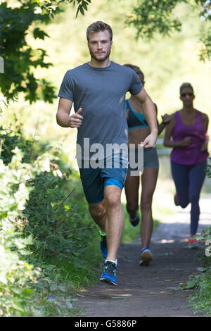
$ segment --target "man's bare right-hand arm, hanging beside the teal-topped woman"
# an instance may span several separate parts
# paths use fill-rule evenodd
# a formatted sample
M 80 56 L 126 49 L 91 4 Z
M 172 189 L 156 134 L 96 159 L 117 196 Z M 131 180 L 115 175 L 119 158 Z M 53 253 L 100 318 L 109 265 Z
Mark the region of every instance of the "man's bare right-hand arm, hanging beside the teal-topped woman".
M 155 105 L 151 100 L 151 97 L 146 93 L 144 88 L 141 92 L 135 94 L 137 99 L 141 102 L 141 108 L 143 109 L 143 114 L 145 115 L 146 121 L 150 127 L 151 134 L 144 139 L 143 146 L 145 147 L 155 147 L 156 140 L 158 137 L 158 125 L 157 125 L 157 114 L 155 111 Z

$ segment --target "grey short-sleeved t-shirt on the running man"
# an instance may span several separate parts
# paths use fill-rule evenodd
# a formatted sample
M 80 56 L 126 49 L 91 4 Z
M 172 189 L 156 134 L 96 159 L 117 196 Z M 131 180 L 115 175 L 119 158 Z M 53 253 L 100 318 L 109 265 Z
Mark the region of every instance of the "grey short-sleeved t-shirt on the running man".
M 102 159 L 111 154 L 113 144 L 115 153 L 118 146 L 127 146 L 125 94 L 138 94 L 141 89 L 134 70 L 114 62 L 106 68 L 84 63 L 65 73 L 58 96 L 72 100 L 75 112 L 82 107 L 84 117 L 77 132 L 78 159 L 89 160 L 96 151 Z

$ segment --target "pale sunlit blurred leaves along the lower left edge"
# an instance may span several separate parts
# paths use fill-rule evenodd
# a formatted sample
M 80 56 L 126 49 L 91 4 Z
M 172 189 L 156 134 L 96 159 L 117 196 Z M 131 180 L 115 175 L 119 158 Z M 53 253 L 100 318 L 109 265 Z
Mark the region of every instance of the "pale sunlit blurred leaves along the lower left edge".
M 30 189 L 25 186 L 29 167 L 21 163 L 23 153 L 15 147 L 8 165 L 0 160 L 0 315 L 26 316 L 30 313 L 34 282 L 38 270 L 23 260 L 29 254 L 32 237 L 22 237 L 21 219 Z M 19 228 L 19 231 L 17 230 Z

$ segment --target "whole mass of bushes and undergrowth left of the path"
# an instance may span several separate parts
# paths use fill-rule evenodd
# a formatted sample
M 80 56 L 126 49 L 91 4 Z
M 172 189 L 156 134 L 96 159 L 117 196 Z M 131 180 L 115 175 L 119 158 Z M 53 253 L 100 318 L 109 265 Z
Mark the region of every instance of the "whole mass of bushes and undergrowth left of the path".
M 92 271 L 87 277 L 89 250 L 92 264 L 100 256 L 98 249 L 93 259 L 96 227 L 79 177 L 56 164 L 57 146 L 28 158 L 32 144 L 12 148 L 27 142 L 19 127 L 1 135 L 0 316 L 72 316 L 70 291 L 94 278 Z

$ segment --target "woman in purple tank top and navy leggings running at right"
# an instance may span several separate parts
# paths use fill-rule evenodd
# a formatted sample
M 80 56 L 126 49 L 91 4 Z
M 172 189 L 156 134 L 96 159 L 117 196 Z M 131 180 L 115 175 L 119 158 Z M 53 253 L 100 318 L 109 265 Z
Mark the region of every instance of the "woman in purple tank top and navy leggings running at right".
M 177 192 L 174 204 L 186 208 L 191 203 L 188 246 L 193 247 L 197 245 L 197 239 L 193 236 L 198 229 L 200 191 L 205 180 L 209 155 L 206 135 L 209 118 L 207 114 L 193 108 L 195 96 L 190 83 L 182 84 L 179 91 L 183 108 L 174 113 L 174 118 L 167 126 L 164 146 L 173 148 L 170 158 Z

